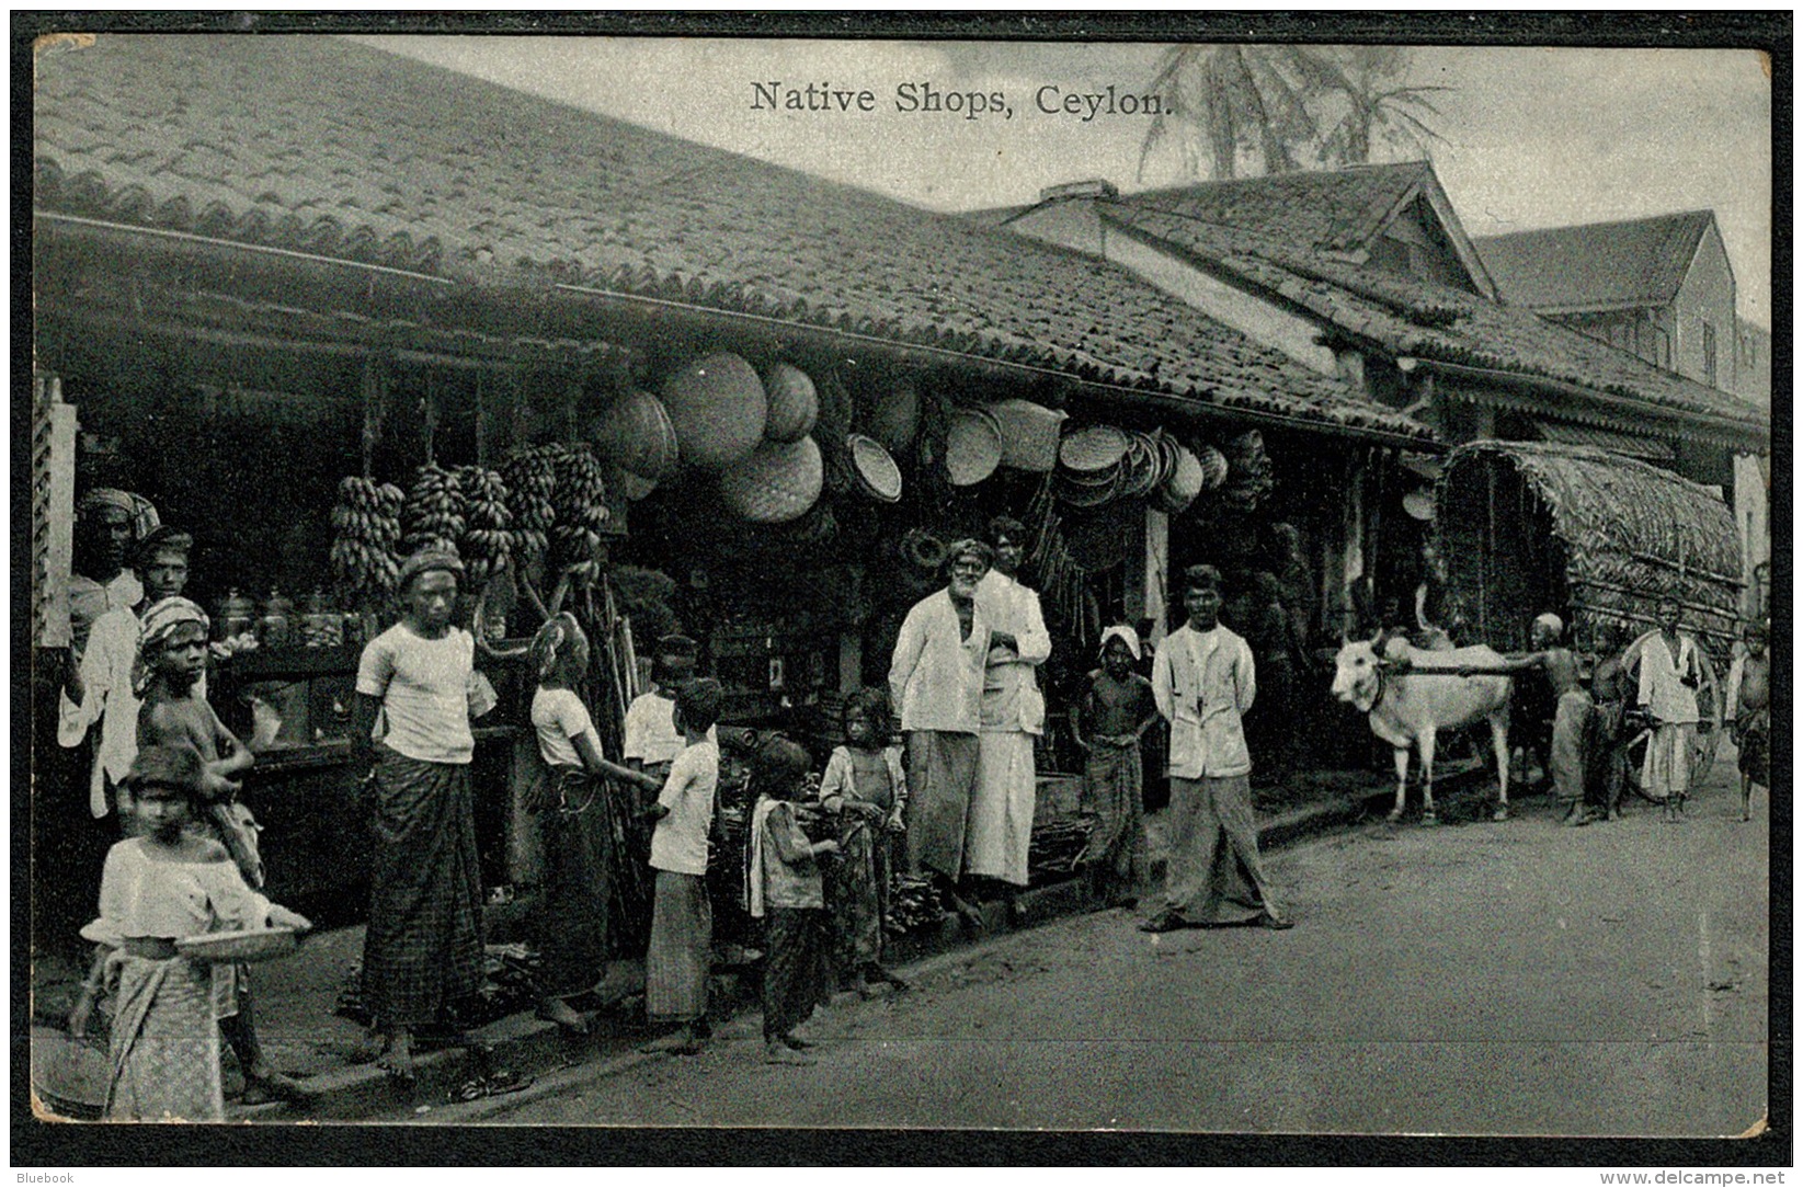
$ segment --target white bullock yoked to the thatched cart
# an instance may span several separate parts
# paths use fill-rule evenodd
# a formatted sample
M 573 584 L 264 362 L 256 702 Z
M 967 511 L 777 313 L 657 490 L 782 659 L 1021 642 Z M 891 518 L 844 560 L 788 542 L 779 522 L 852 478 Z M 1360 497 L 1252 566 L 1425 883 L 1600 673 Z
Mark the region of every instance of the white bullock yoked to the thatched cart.
M 1334 696 L 1367 714 L 1370 732 L 1396 748 L 1396 808 L 1403 815 L 1408 750 L 1421 748 L 1423 824 L 1433 824 L 1433 739 L 1441 730 L 1489 721 L 1496 746 L 1496 820 L 1509 817 L 1507 676 L 1457 676 L 1459 669 L 1495 672 L 1502 656 L 1487 647 L 1421 651 L 1403 636 L 1354 640 L 1334 660 Z

